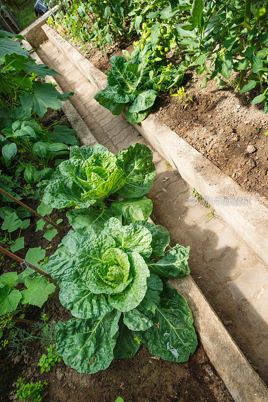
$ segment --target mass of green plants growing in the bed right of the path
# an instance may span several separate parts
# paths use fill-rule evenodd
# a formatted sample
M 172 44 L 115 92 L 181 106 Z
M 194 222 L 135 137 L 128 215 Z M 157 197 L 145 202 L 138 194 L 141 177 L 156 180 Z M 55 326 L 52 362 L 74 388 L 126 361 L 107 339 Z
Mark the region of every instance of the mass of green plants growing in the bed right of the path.
M 59 2 L 59 11 L 48 23 L 73 40 L 91 41 L 105 51 L 115 41 L 138 35 L 135 50 L 125 57 L 112 56 L 107 87 L 95 99 L 119 115 L 128 107 L 126 119 L 140 123 L 150 113 L 160 91 L 186 101 L 182 89 L 184 73 L 203 74 L 201 87 L 215 80 L 218 89 L 235 84 L 245 102 L 246 93 L 258 88 L 252 104 L 264 104 L 268 113 L 267 13 L 254 0 L 229 4 L 224 1 Z M 181 61 L 174 66 L 166 55 L 176 49 Z M 230 78 L 234 71 L 236 77 Z

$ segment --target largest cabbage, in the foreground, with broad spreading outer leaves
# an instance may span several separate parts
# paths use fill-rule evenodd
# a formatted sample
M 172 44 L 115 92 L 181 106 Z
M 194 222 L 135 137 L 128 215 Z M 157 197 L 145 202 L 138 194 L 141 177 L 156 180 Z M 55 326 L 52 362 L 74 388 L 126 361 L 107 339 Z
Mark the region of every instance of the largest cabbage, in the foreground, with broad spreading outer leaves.
M 73 316 L 56 326 L 58 354 L 82 373 L 134 356 L 143 342 L 155 356 L 187 361 L 197 346 L 192 314 L 161 278 L 189 273 L 189 248 L 165 252 L 165 228 L 143 220 L 123 225 L 112 217 L 115 207 L 69 211 L 75 230 L 48 259 L 60 302 Z

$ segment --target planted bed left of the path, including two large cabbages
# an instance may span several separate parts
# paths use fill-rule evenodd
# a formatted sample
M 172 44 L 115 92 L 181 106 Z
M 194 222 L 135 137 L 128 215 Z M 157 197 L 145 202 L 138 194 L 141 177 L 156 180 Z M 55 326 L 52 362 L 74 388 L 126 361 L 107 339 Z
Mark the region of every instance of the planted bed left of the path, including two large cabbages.
M 164 360 L 187 361 L 197 346 L 193 319 L 167 279 L 189 273 L 189 248 L 169 248 L 168 231 L 147 222 L 152 152 L 137 143 L 115 156 L 99 144 L 78 146 L 67 126 L 45 127 L 48 108 L 60 109 L 71 92 L 44 83 L 41 78 L 57 73 L 36 64 L 12 36 L 2 32 L 0 39 L 1 251 L 26 270 L 0 276 L 2 347 L 12 345 L 16 322 L 27 324 L 28 306 L 41 308 L 59 287 L 73 318 L 55 326 L 49 344 L 55 341 L 57 352 L 55 346 L 48 352 L 78 372 L 134 356 L 142 343 Z M 30 199 L 43 199 L 37 211 L 25 208 Z M 39 214 L 36 231 L 47 224 L 44 237 L 51 241 L 65 229 L 49 215 L 67 207 L 76 207 L 66 213 L 74 230 L 55 253 L 47 258 L 40 246 L 26 250 L 21 233 L 30 214 Z

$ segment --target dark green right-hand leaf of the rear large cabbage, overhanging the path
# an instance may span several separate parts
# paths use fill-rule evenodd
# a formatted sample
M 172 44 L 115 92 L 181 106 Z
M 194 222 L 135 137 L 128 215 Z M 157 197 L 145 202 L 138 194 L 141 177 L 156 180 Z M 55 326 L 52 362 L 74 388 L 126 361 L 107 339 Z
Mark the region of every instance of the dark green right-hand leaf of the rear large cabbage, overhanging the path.
M 149 192 L 156 175 L 152 160 L 152 151 L 139 143 L 132 144 L 125 151 L 118 153 L 116 164 L 126 176 L 125 183 L 118 190 L 120 195 L 137 198 Z

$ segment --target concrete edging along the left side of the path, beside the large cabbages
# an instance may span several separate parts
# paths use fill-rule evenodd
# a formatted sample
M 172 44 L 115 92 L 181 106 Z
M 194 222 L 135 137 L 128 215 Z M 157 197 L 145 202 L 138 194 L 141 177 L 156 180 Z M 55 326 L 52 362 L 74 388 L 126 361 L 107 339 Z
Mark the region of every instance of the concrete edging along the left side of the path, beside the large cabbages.
M 25 45 L 27 47 L 27 43 Z M 35 52 L 32 57 L 42 63 Z M 46 80 L 56 83 L 52 77 Z M 56 87 L 62 92 L 58 84 Z M 73 128 L 78 130 L 84 145 L 97 143 L 68 100 L 64 103 L 64 112 Z M 268 389 L 228 334 L 193 278 L 188 275 L 179 280 L 173 279 L 170 283 L 187 299 L 202 345 L 235 402 L 265 402 Z

